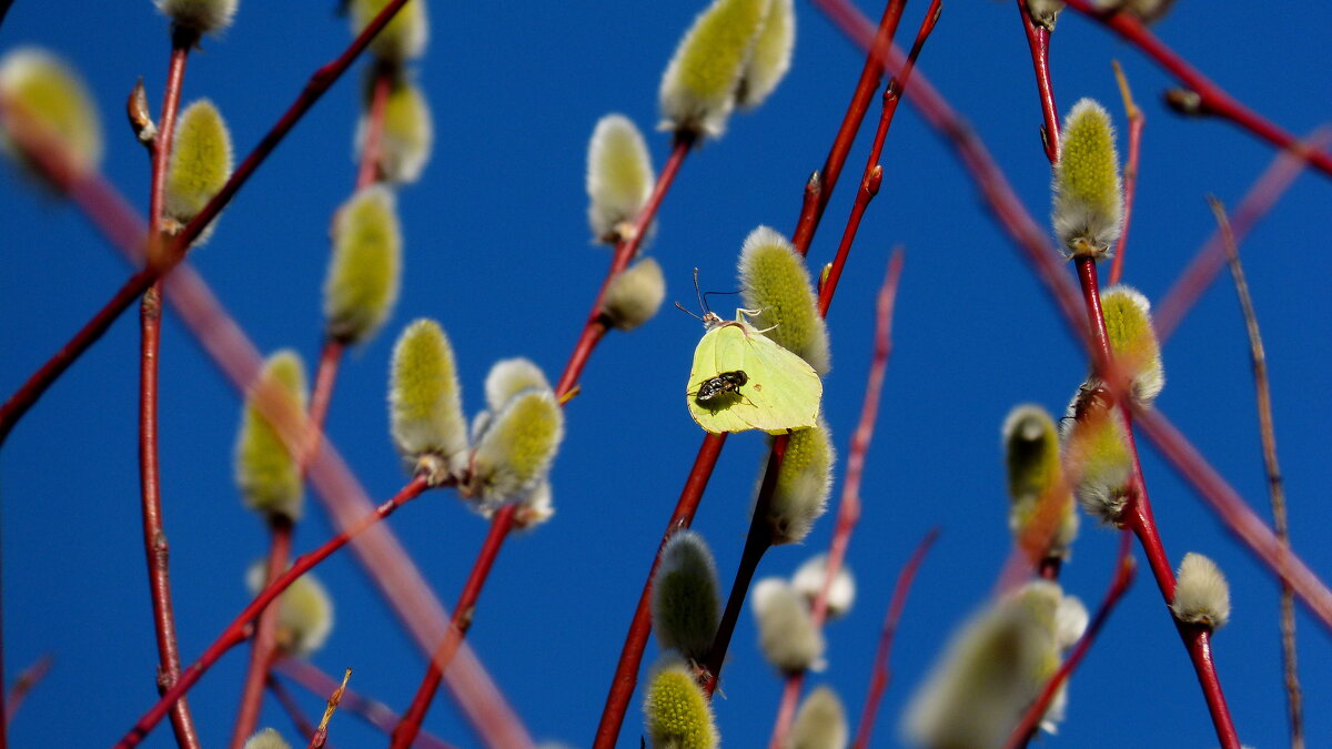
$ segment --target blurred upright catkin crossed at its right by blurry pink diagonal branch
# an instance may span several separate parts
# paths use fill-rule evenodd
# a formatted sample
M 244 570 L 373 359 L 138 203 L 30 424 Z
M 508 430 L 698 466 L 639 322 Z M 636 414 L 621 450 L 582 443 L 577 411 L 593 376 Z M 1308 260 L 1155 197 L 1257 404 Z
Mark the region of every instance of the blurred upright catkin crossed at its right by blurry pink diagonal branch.
M 245 506 L 269 518 L 300 520 L 304 484 L 300 462 L 265 414 L 282 414 L 300 428 L 305 424 L 305 367 L 289 349 L 268 357 L 245 398 L 236 440 L 236 485 Z

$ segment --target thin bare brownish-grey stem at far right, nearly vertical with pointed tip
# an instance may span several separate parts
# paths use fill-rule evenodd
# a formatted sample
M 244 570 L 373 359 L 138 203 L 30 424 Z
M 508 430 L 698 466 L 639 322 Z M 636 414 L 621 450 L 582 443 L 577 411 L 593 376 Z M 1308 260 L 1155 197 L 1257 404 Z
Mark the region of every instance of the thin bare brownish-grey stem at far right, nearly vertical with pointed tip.
M 1267 377 L 1267 353 L 1263 349 L 1263 333 L 1257 327 L 1257 313 L 1249 296 L 1244 267 L 1240 264 L 1239 249 L 1231 224 L 1225 219 L 1225 207 L 1215 197 L 1208 197 L 1216 223 L 1224 237 L 1225 255 L 1229 257 L 1231 275 L 1235 277 L 1235 293 L 1240 299 L 1244 313 L 1244 329 L 1249 340 L 1249 360 L 1253 365 L 1253 390 L 1257 400 L 1259 437 L 1263 441 L 1263 466 L 1267 470 L 1267 492 L 1272 500 L 1272 522 L 1276 537 L 1285 549 L 1291 548 L 1291 526 L 1285 514 L 1285 488 L 1281 466 L 1276 460 L 1276 425 L 1272 420 L 1272 388 Z M 1291 749 L 1304 748 L 1303 697 L 1300 696 L 1300 674 L 1295 650 L 1295 593 L 1291 584 L 1281 581 L 1281 660 L 1285 670 L 1285 702 L 1291 720 Z

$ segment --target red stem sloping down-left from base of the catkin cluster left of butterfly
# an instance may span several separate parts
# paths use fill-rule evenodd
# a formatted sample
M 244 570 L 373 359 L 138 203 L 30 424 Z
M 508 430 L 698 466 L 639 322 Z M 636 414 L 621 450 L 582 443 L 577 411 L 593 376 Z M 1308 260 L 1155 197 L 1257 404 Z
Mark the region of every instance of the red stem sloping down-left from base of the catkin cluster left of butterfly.
M 348 541 L 354 538 L 362 530 L 393 514 L 396 509 L 414 500 L 428 488 L 429 485 L 426 484 L 425 477 L 418 476 L 413 478 L 406 486 L 402 488 L 402 490 L 385 501 L 382 505 L 377 506 L 373 513 L 362 517 L 360 521 L 350 525 L 337 536 L 329 538 L 318 549 L 297 557 L 290 569 L 284 572 L 277 580 L 269 584 L 268 588 L 261 590 L 260 594 L 256 596 L 254 600 L 250 601 L 249 605 L 245 606 L 245 609 L 241 610 L 241 613 L 226 626 L 226 629 L 217 636 L 217 640 L 214 640 L 213 644 L 204 650 L 204 654 L 200 656 L 197 661 L 192 662 L 189 668 L 181 672 L 176 684 L 161 696 L 157 704 L 155 704 L 147 713 L 144 713 L 143 717 L 139 718 L 139 722 L 129 729 L 129 733 L 116 742 L 116 749 L 137 746 L 139 742 L 148 736 L 148 732 L 161 721 L 163 716 L 166 714 L 170 706 L 174 705 L 176 701 L 180 700 L 181 696 L 184 696 L 185 692 L 188 692 L 196 682 L 198 682 L 200 677 L 202 677 L 204 673 L 222 657 L 222 654 L 245 641 L 249 636 L 250 622 L 253 622 L 258 617 L 260 612 L 277 598 L 282 590 L 286 590 L 286 588 L 294 582 L 297 577 L 305 574 L 314 568 L 314 565 L 328 558 L 333 552 L 345 546 Z

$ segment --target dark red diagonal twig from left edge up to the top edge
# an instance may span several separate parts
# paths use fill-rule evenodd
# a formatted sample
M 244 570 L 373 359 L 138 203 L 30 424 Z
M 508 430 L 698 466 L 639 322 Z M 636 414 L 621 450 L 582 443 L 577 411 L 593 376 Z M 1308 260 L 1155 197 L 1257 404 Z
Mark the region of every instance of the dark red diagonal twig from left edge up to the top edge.
M 305 112 L 314 105 L 320 97 L 332 87 L 346 69 L 352 65 L 356 57 L 370 44 L 377 33 L 384 29 L 385 25 L 393 16 L 397 15 L 398 9 L 405 5 L 408 0 L 389 0 L 382 11 L 374 20 L 366 24 L 365 29 L 346 47 L 346 49 L 337 56 L 333 61 L 325 64 L 320 69 L 314 71 L 309 81 L 306 81 L 305 88 L 297 95 L 296 101 L 286 109 L 285 113 L 278 119 L 278 121 L 264 135 L 264 139 L 258 141 L 258 145 L 241 161 L 240 167 L 232 172 L 232 176 L 222 185 L 212 200 L 200 211 L 198 216 L 189 221 L 189 224 L 181 229 L 178 235 L 166 247 L 159 248 L 157 251 L 149 252 L 148 255 L 153 259 L 147 268 L 132 276 L 125 285 L 116 292 L 116 295 L 108 301 L 99 312 L 89 320 L 80 331 L 72 337 L 55 356 L 51 357 L 40 369 L 37 369 L 32 376 L 24 381 L 23 386 L 9 396 L 9 398 L 0 406 L 0 442 L 9 434 L 13 425 L 23 417 L 24 413 L 32 404 L 36 402 L 41 393 L 51 386 L 52 382 L 69 368 L 76 359 L 79 359 L 83 352 L 88 351 L 97 339 L 111 327 L 111 324 L 119 317 L 129 305 L 143 296 L 143 293 L 152 285 L 159 277 L 170 272 L 181 260 L 185 259 L 185 249 L 189 248 L 190 243 L 198 237 L 200 232 L 208 227 L 222 208 L 230 203 L 232 197 L 236 196 L 237 191 L 249 180 L 256 169 L 268 159 L 268 156 L 277 148 L 286 133 L 296 127 L 296 123 L 305 116 Z M 12 113 L 8 108 L 3 107 L 0 103 L 0 117 L 12 119 Z M 163 128 L 159 137 L 165 140 L 169 135 Z M 47 143 L 33 143 L 31 145 L 36 147 L 49 147 L 49 139 Z M 159 149 L 160 151 L 160 149 Z M 25 151 L 27 152 L 27 151 Z M 59 161 L 59 160 L 57 160 Z M 68 164 L 68 160 L 64 161 Z M 39 160 L 40 165 L 40 160 Z M 95 185 L 100 187 L 100 185 Z M 97 204 L 97 209 L 115 209 L 121 208 L 121 205 L 115 204 Z M 116 236 L 119 239 L 129 239 L 124 232 L 127 228 L 125 223 L 112 223 L 109 219 L 95 217 L 95 223 L 100 225 L 112 224 L 116 228 Z M 144 237 L 140 236 L 137 241 L 133 241 L 133 247 L 143 249 Z

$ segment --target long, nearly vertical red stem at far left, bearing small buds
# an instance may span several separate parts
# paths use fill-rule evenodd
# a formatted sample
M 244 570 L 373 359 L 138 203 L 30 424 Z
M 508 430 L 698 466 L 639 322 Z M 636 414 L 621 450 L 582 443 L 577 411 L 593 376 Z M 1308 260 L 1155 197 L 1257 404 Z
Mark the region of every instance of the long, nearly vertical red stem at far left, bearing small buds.
M 172 140 L 176 131 L 176 112 L 180 109 L 180 89 L 185 77 L 185 60 L 190 47 L 198 40 L 196 32 L 173 27 L 170 61 L 166 67 L 166 85 L 157 141 L 152 151 L 152 177 L 149 187 L 148 235 L 163 233 L 163 200 L 166 192 L 166 171 L 170 165 Z M 145 293 L 140 307 L 140 360 L 139 360 L 139 481 L 144 526 L 144 557 L 148 562 L 148 590 L 153 606 L 153 632 L 157 640 L 157 693 L 161 694 L 180 678 L 180 646 L 176 642 L 176 614 L 172 608 L 169 558 L 170 548 L 163 524 L 161 465 L 157 453 L 157 373 L 161 360 L 161 292 L 159 280 Z M 198 749 L 198 732 L 189 714 L 189 704 L 181 700 L 170 709 L 172 732 L 176 744 L 185 749 Z

